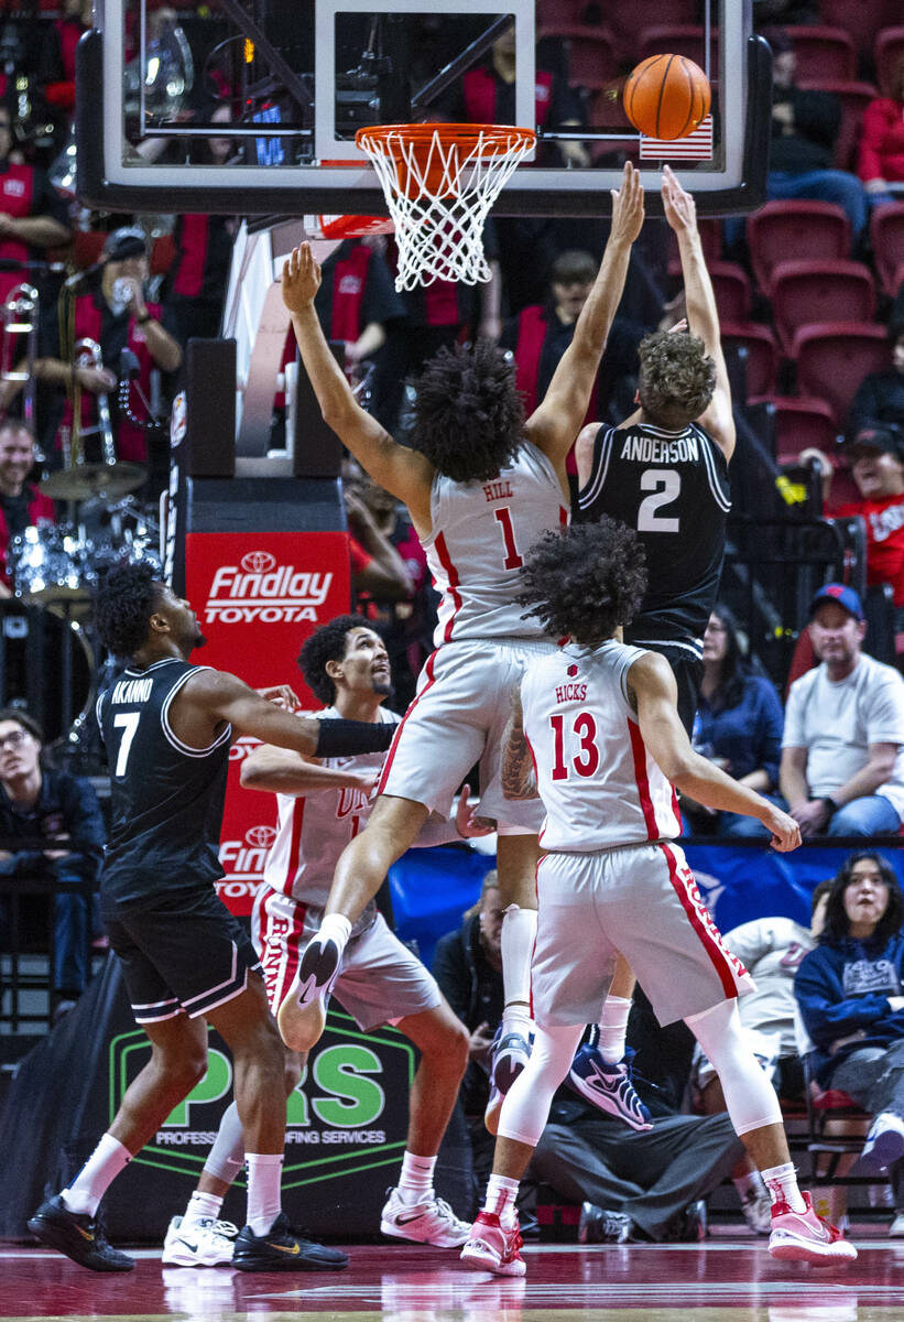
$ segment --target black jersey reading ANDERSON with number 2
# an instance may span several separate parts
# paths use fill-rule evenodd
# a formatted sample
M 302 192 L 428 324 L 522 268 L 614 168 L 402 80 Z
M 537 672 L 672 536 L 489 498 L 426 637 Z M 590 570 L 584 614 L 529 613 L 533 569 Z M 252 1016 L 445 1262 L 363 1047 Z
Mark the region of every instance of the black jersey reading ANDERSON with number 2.
M 728 464 L 715 442 L 694 424 L 600 427 L 578 505 L 582 522 L 608 514 L 644 543 L 649 586 L 625 642 L 666 644 L 699 658 L 731 509 Z

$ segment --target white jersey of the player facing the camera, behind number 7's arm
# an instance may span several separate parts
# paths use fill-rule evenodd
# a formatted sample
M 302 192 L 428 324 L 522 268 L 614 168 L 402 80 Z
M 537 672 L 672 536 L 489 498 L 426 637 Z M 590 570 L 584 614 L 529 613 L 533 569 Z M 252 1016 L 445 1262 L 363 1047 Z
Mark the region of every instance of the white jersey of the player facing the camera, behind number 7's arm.
M 340 713 L 328 707 L 319 715 L 329 719 Z M 382 707 L 377 719 L 382 724 L 399 720 L 395 713 Z M 385 752 L 324 758 L 322 765 L 375 773 L 385 758 Z M 264 882 L 282 895 L 322 907 L 333 884 L 338 857 L 349 841 L 363 830 L 374 798 L 361 789 L 312 789 L 307 795 L 276 795 L 276 804 L 279 822 L 264 867 Z

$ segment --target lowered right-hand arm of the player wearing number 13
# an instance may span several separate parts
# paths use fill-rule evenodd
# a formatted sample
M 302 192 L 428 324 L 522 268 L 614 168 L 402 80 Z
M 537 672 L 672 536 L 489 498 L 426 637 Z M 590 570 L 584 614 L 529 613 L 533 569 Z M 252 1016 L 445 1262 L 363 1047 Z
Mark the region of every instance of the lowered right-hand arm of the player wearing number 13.
M 644 743 L 666 780 L 707 808 L 756 817 L 772 832 L 774 849 L 797 849 L 801 833 L 793 817 L 694 752 L 678 719 L 675 677 L 663 657 L 646 652 L 629 669 L 628 683 Z

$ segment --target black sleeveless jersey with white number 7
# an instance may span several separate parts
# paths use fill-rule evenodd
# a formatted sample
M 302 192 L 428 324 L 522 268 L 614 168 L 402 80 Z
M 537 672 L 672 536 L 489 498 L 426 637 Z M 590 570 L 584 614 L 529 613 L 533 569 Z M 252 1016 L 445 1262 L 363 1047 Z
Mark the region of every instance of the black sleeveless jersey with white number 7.
M 204 888 L 223 875 L 218 850 L 231 726 L 209 748 L 190 748 L 169 723 L 176 694 L 206 669 L 177 658 L 130 668 L 98 698 L 112 808 L 100 874 L 104 908 Z

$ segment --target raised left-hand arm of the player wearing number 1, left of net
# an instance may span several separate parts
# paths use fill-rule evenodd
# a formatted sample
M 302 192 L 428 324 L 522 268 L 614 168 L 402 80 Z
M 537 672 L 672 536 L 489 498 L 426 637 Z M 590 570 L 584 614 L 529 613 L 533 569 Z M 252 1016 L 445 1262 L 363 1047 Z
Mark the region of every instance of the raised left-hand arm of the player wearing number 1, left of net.
M 375 483 L 404 501 L 416 531 L 422 537 L 428 535 L 432 465 L 423 455 L 393 440 L 386 428 L 365 412 L 352 394 L 315 312 L 313 300 L 319 288 L 320 266 L 311 245 L 301 243 L 283 264 L 283 303 L 292 316 L 295 338 L 324 422 Z

